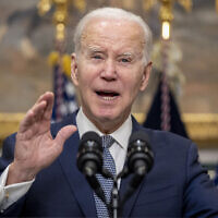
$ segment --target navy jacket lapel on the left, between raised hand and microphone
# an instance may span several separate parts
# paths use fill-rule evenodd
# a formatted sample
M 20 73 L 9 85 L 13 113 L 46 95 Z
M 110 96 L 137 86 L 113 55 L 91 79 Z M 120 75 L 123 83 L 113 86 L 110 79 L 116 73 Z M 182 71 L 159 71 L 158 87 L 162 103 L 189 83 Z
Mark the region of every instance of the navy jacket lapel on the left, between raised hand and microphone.
M 60 125 L 58 125 L 58 128 L 56 128 L 52 131 L 53 137 L 57 135 L 58 131 L 62 126 L 66 124 L 76 125 L 75 122 L 76 113 L 77 111 L 71 114 L 71 117 L 66 118 L 63 122 L 60 123 Z M 75 132 L 65 142 L 63 152 L 59 156 L 58 160 L 61 165 L 65 179 L 68 180 L 69 185 L 72 190 L 72 194 L 77 199 L 78 205 L 82 211 L 84 213 L 85 217 L 97 217 L 93 190 L 87 183 L 85 177 L 78 171 L 76 165 L 78 143 L 80 143 L 78 132 Z

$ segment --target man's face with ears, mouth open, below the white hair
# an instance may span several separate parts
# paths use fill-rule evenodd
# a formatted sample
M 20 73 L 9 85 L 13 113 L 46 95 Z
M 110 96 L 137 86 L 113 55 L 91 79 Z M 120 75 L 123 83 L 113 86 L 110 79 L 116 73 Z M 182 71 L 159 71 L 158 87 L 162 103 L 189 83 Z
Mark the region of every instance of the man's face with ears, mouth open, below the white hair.
M 142 28 L 134 22 L 95 19 L 86 25 L 81 50 L 72 56 L 72 80 L 84 113 L 102 132 L 118 129 L 131 112 L 150 72 Z

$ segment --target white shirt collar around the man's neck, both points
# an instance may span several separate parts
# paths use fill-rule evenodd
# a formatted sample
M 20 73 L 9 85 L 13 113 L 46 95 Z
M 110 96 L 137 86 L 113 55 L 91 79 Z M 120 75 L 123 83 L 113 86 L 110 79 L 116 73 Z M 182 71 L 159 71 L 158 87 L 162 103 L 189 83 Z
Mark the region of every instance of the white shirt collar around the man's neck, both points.
M 78 129 L 78 134 L 80 137 L 88 131 L 94 131 L 98 133 L 100 136 L 104 135 L 97 126 L 88 120 L 88 118 L 84 114 L 83 109 L 80 108 L 77 116 L 76 116 L 76 124 Z M 128 149 L 128 143 L 129 143 L 129 137 L 132 133 L 132 119 L 131 114 L 128 117 L 125 122 L 113 133 L 110 135 L 118 142 L 118 144 L 124 148 Z

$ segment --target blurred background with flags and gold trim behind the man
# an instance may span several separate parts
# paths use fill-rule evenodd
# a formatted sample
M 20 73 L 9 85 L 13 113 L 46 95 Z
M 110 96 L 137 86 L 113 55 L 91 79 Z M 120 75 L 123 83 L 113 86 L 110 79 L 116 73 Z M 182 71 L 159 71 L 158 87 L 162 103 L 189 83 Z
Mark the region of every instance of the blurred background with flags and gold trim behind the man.
M 46 90 L 53 90 L 58 99 L 53 120 L 76 109 L 80 100 L 69 77 L 74 27 L 87 11 L 110 5 L 141 15 L 154 33 L 152 78 L 136 99 L 133 113 L 148 128 L 193 140 L 201 149 L 201 161 L 215 169 L 216 0 L 0 0 L 0 143 L 17 130 L 24 113 Z M 164 22 L 170 24 L 169 39 L 162 39 Z M 162 96 L 168 96 L 167 101 Z M 162 106 L 168 110 L 162 111 Z

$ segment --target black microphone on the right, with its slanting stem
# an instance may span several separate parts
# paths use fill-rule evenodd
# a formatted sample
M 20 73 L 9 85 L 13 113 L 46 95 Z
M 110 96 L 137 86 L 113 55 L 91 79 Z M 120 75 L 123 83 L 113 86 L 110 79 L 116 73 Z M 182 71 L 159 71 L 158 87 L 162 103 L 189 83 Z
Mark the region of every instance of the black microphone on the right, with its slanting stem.
M 145 174 L 152 169 L 154 164 L 154 155 L 149 145 L 149 138 L 145 132 L 134 132 L 129 140 L 126 166 L 121 173 L 122 178 L 133 173 L 132 179 L 128 185 L 126 192 L 120 202 L 120 211 L 122 214 L 122 207 L 126 199 L 138 187 Z

